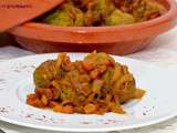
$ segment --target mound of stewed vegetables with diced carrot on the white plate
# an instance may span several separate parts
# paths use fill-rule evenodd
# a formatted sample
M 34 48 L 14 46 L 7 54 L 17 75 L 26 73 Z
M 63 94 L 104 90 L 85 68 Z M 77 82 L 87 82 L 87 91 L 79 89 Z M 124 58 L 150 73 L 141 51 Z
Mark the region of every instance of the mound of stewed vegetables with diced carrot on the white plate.
M 33 79 L 35 92 L 27 96 L 27 103 L 61 113 L 124 114 L 121 104 L 145 94 L 126 65 L 102 52 L 74 62 L 60 53 L 56 60 L 40 64 Z

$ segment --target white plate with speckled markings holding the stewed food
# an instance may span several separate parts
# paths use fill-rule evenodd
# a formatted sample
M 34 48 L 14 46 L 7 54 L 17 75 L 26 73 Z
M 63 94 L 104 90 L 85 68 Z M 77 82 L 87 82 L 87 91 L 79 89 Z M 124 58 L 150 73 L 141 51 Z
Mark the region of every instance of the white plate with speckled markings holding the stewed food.
M 71 53 L 71 59 L 83 59 L 84 53 Z M 177 114 L 177 71 L 165 70 L 140 61 L 114 57 L 127 64 L 138 88 L 147 91 L 140 101 L 124 105 L 125 115 L 61 114 L 25 104 L 25 96 L 33 92 L 32 72 L 42 61 L 56 54 L 20 58 L 0 64 L 0 120 L 51 131 L 104 132 L 121 131 L 155 124 Z

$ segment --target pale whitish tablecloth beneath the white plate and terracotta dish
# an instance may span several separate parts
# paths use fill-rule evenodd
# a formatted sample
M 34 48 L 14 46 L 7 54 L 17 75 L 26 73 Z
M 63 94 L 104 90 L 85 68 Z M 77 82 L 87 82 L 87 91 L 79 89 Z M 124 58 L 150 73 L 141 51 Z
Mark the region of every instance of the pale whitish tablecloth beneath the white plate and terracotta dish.
M 0 48 L 0 62 L 30 54 L 34 53 L 14 47 L 3 47 Z M 127 57 L 177 69 L 177 28 L 158 37 L 146 50 Z M 48 133 L 46 131 L 17 126 L 1 121 L 0 129 L 7 133 Z M 177 117 L 156 125 L 115 133 L 177 133 Z

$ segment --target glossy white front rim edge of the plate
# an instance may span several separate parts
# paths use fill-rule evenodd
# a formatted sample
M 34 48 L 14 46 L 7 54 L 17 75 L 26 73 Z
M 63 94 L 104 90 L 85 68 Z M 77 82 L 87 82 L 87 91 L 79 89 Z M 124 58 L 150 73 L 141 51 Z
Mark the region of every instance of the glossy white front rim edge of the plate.
M 35 125 L 35 124 L 31 124 L 31 123 L 23 123 L 23 122 L 18 122 L 18 121 L 13 121 L 7 117 L 3 117 L 0 115 L 0 120 L 10 124 L 14 124 L 18 126 L 24 126 L 24 127 L 30 127 L 30 129 L 37 129 L 37 130 L 45 130 L 45 131 L 58 131 L 58 132 L 113 132 L 113 131 L 127 131 L 127 130 L 133 130 L 133 129 L 138 129 L 138 127 L 145 127 L 145 126 L 149 126 L 149 125 L 155 125 L 162 122 L 165 122 L 167 120 L 170 120 L 173 117 L 177 116 L 177 112 L 173 113 L 168 116 L 164 116 L 162 119 L 158 120 L 154 120 L 150 122 L 144 122 L 143 124 L 133 124 L 133 125 L 124 125 L 122 127 L 118 126 L 112 126 L 112 127 L 102 127 L 102 129 L 91 129 L 91 127 L 84 127 L 84 129 L 67 129 L 67 127 L 52 127 L 52 126 L 44 126 L 44 125 Z

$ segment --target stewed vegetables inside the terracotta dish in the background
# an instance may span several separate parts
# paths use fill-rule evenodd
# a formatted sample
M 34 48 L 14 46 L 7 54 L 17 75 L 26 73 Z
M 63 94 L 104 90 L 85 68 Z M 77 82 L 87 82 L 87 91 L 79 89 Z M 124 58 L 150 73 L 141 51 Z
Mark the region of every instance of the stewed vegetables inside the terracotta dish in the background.
M 42 22 L 63 27 L 122 25 L 148 21 L 166 12 L 156 0 L 65 0 Z

